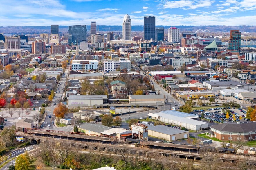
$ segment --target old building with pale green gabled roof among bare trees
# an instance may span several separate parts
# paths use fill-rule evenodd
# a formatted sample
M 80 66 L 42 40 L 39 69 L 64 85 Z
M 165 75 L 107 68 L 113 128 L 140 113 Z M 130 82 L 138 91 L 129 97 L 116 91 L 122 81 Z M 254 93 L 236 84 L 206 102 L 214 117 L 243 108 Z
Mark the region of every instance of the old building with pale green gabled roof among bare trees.
M 126 99 L 128 95 L 128 90 L 126 88 L 125 82 L 120 80 L 115 80 L 110 83 L 111 93 L 116 99 Z

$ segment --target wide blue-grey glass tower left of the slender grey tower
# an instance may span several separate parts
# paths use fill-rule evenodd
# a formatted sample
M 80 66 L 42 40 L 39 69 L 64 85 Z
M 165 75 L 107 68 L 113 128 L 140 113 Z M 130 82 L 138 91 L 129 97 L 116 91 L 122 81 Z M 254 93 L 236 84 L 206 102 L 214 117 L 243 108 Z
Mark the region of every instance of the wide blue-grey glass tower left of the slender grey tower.
M 80 42 L 82 42 L 83 40 L 86 41 L 87 38 L 86 25 L 68 26 L 68 34 L 72 35 L 71 43 L 78 43 L 78 45 L 80 45 Z

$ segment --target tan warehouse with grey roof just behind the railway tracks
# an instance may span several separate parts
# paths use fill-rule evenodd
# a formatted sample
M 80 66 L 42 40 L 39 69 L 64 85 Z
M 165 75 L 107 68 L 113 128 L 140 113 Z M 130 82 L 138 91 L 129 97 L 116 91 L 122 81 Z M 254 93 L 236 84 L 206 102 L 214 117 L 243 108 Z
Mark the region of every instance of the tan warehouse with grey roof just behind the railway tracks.
M 147 127 L 149 136 L 165 139 L 167 141 L 175 141 L 179 139 L 186 139 L 189 137 L 188 131 L 171 128 L 165 125 L 154 126 L 147 124 Z

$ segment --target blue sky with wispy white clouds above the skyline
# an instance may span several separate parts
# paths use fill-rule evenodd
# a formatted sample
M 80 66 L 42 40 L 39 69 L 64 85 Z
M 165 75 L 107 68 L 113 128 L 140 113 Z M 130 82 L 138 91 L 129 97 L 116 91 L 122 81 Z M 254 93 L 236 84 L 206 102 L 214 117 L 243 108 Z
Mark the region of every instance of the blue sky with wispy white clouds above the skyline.
M 256 0 L 1 0 L 0 26 L 132 25 L 156 16 L 156 25 L 256 25 Z

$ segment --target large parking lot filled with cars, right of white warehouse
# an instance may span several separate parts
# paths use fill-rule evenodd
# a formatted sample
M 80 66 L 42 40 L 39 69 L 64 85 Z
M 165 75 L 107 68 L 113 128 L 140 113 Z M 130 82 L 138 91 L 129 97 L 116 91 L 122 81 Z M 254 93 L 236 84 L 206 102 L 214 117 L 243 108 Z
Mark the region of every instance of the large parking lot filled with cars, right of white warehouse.
M 224 109 L 224 112 L 222 109 Z M 232 107 L 228 107 L 227 109 L 230 110 L 228 119 L 226 118 L 226 110 L 223 107 L 210 108 L 207 110 L 194 110 L 190 114 L 194 114 L 194 115 L 201 117 L 201 114 L 203 113 L 205 119 L 208 119 L 212 122 L 215 121 L 215 122 L 219 122 L 219 123 L 222 122 L 222 119 L 223 119 L 223 123 L 227 123 L 228 121 L 239 122 L 240 116 L 242 117 L 242 119 L 250 121 L 250 119 L 246 119 L 246 111 L 245 110 L 243 110 L 241 108 L 237 109 L 237 108 L 232 108 Z M 235 120 L 233 118 L 233 115 L 235 115 Z

